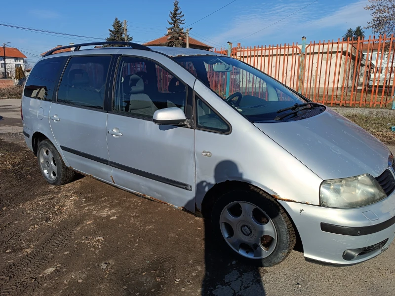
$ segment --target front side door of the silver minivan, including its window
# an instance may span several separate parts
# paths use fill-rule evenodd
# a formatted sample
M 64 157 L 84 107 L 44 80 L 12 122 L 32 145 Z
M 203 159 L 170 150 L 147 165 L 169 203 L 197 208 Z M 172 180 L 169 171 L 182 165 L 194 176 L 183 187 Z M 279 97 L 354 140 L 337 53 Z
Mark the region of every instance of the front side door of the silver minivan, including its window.
M 124 55 L 118 60 L 113 111 L 107 118 L 114 181 L 141 195 L 195 211 L 194 129 L 157 125 L 152 118 L 155 111 L 168 107 L 192 116 L 187 98 L 192 100 L 196 78 L 161 54 L 134 52 L 139 56 Z

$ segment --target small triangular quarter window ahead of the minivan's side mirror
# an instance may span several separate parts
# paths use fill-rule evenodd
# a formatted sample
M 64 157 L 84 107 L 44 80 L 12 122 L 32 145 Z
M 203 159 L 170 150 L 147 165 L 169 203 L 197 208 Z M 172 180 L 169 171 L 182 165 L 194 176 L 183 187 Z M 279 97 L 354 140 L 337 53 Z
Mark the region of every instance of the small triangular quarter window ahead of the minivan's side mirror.
M 198 96 L 196 96 L 196 127 L 222 133 L 230 131 L 229 125 Z

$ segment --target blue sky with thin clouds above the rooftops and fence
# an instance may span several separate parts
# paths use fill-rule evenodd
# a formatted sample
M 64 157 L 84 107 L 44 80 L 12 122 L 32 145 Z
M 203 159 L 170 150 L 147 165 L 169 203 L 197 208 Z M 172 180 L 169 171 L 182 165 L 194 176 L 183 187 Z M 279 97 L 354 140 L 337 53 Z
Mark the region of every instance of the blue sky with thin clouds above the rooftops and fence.
M 193 24 L 191 36 L 214 47 L 227 41 L 242 46 L 300 42 L 342 37 L 345 31 L 366 26 L 370 13 L 363 9 L 367 0 L 318 0 L 287 17 L 314 0 L 236 0 L 222 10 Z M 231 2 L 231 0 L 179 0 L 186 26 Z M 23 13 L 17 13 L 22 7 Z M 80 36 L 108 37 L 115 17 L 128 21 L 128 33 L 138 42 L 161 37 L 168 26 L 173 0 L 69 0 L 69 1 L 5 1 L 1 4 L 0 23 L 20 25 Z M 286 17 L 286 18 L 285 18 Z M 246 37 L 263 29 L 261 32 Z M 370 35 L 369 30 L 365 30 Z M 246 37 L 246 38 L 244 38 Z M 81 43 L 86 38 L 58 37 L 0 26 L 0 43 L 25 51 L 31 64 L 40 53 L 56 45 Z M 97 41 L 97 40 L 94 40 Z M 26 53 L 29 52 L 30 54 Z

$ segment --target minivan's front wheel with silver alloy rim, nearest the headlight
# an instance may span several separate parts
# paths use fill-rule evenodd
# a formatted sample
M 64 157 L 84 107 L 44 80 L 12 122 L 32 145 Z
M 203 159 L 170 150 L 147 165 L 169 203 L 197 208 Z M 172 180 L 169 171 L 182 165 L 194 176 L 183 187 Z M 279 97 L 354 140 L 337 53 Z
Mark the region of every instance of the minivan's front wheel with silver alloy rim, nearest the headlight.
M 211 229 L 221 249 L 256 266 L 280 263 L 296 242 L 292 222 L 281 206 L 252 185 L 232 189 L 216 200 Z

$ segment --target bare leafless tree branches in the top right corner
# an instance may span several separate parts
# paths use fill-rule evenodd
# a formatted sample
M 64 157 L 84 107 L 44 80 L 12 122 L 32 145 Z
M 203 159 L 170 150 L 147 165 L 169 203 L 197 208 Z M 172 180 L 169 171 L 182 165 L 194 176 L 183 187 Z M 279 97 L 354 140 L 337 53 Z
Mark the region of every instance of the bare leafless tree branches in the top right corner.
M 372 21 L 367 23 L 365 29 L 372 29 L 373 33 L 391 35 L 395 33 L 395 1 L 369 0 L 364 7 L 371 11 Z

